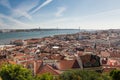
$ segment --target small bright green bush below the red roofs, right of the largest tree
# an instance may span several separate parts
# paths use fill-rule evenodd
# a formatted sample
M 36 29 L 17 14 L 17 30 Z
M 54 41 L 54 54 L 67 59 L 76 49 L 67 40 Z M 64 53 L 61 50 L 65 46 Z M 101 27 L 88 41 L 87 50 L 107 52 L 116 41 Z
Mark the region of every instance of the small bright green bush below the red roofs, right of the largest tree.
M 37 75 L 35 80 L 53 80 L 53 75 L 51 75 L 50 73 L 45 73 L 42 75 Z

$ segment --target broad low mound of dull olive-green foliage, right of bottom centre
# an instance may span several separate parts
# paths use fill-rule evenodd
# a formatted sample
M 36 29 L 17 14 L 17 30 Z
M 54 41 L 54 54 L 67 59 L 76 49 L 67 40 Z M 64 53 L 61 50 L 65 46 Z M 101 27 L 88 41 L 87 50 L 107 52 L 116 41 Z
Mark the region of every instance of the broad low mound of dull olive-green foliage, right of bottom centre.
M 61 80 L 110 80 L 107 76 L 95 71 L 72 70 L 60 75 Z

